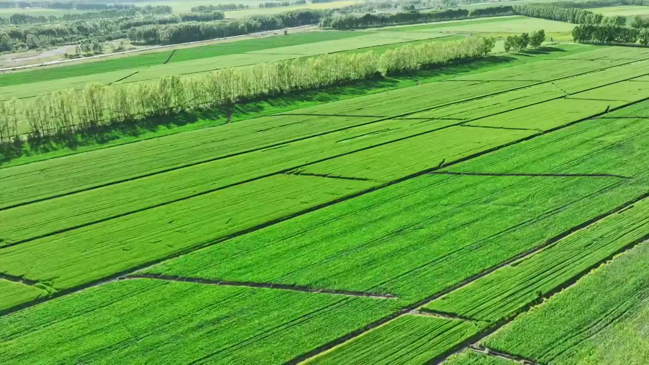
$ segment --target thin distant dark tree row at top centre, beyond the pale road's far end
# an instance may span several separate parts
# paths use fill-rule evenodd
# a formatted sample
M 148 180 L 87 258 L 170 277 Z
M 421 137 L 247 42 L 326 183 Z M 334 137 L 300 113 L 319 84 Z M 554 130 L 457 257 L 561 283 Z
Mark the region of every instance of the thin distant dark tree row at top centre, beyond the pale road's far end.
M 384 27 L 386 25 L 428 23 L 430 21 L 445 21 L 466 19 L 480 16 L 500 16 L 513 14 L 511 6 L 494 6 L 491 8 L 476 8 L 472 10 L 451 8 L 434 12 L 378 13 L 378 14 L 332 14 L 320 21 L 320 27 L 334 29 L 362 29 Z

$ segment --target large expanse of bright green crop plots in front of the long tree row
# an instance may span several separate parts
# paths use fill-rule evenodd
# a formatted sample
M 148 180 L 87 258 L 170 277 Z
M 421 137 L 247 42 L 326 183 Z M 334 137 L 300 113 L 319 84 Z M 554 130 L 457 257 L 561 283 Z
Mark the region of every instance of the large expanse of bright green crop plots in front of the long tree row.
M 553 47 L 0 168 L 0 362 L 643 363 L 649 53 Z

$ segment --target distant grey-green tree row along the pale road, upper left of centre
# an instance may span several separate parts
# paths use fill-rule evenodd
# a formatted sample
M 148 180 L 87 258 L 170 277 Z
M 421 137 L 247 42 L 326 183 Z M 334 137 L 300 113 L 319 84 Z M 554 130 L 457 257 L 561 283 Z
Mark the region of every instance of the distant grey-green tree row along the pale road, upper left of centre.
M 317 24 L 324 14 L 321 10 L 300 9 L 268 16 L 249 16 L 205 23 L 147 25 L 131 28 L 127 35 L 131 42 L 138 44 L 177 44 Z

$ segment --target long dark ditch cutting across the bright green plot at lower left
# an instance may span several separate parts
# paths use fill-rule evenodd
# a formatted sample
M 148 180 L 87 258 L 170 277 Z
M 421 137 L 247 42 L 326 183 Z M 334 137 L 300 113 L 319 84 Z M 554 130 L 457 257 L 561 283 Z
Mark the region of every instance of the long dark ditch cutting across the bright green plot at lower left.
M 130 279 L 155 279 L 155 280 L 163 280 L 163 281 L 175 281 L 179 283 L 194 283 L 194 284 L 217 285 L 217 286 L 245 286 L 247 288 L 290 290 L 293 292 L 308 292 L 314 294 L 330 294 L 330 295 L 348 296 L 348 297 L 398 299 L 397 296 L 389 293 L 368 293 L 368 292 L 356 292 L 352 290 L 329 290 L 329 289 L 310 288 L 309 286 L 301 286 L 301 285 L 254 283 L 251 281 L 224 281 L 218 279 L 202 279 L 198 277 L 178 277 L 178 276 L 156 275 L 156 274 L 146 274 L 146 273 L 126 275 L 118 278 L 118 280 L 130 280 Z

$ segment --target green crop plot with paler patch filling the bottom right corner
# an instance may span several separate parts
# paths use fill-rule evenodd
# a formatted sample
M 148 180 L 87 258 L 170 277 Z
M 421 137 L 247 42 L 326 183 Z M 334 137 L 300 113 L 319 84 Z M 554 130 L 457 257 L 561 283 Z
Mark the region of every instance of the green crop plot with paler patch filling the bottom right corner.
M 646 214 L 639 217 L 646 221 Z M 646 228 L 644 229 L 646 233 Z M 649 245 L 635 247 L 493 334 L 487 346 L 541 362 L 641 363 Z M 533 340 L 532 340 L 533 339 Z

